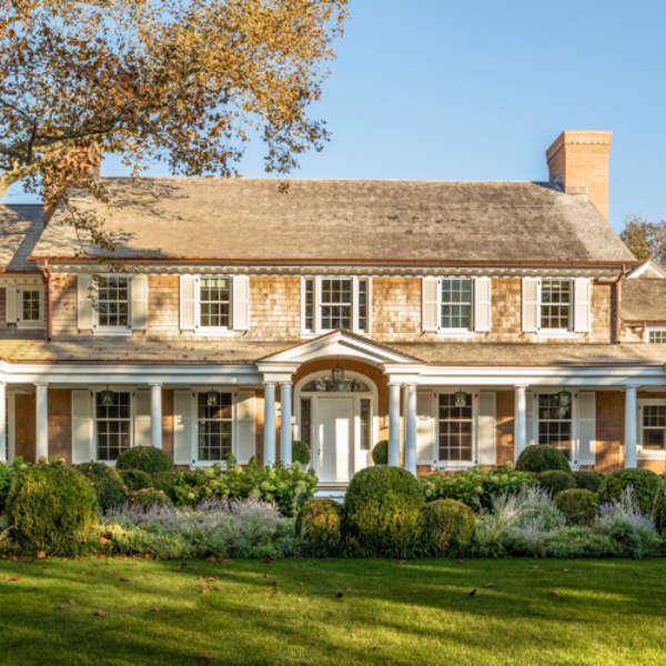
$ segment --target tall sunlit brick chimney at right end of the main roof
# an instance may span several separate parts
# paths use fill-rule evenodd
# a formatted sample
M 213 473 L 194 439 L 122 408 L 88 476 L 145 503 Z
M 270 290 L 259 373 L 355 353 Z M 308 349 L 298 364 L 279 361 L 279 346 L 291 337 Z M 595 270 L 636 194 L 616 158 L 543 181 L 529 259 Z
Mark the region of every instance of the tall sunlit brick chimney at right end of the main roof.
M 608 153 L 613 132 L 565 130 L 546 150 L 549 181 L 569 194 L 587 193 L 608 221 Z

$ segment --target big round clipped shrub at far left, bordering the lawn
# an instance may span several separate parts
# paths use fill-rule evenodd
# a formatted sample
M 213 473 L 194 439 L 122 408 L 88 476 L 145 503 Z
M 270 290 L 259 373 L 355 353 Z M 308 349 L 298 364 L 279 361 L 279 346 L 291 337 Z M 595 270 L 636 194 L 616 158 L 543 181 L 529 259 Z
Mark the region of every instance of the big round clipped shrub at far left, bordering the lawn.
M 85 539 L 100 508 L 85 477 L 62 464 L 39 464 L 12 481 L 7 519 L 27 552 L 71 556 L 85 551 Z

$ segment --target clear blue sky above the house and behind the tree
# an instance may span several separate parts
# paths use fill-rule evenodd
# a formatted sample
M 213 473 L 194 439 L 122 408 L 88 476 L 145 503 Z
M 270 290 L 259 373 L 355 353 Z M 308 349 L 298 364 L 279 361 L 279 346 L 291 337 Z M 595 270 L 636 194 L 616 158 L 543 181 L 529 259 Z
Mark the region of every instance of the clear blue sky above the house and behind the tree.
M 295 178 L 545 180 L 561 130 L 613 130 L 612 224 L 666 219 L 665 2 L 351 0 L 350 10 L 316 108 L 333 139 Z M 253 145 L 243 175 L 263 175 L 261 157 Z M 108 158 L 102 173 L 123 169 Z

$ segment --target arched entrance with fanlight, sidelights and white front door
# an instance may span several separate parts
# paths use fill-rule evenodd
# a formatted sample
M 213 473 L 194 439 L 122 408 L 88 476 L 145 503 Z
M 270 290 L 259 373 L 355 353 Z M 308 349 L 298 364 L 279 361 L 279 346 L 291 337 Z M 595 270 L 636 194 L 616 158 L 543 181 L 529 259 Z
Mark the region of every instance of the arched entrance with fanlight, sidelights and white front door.
M 322 484 L 345 484 L 372 464 L 379 434 L 377 387 L 345 371 L 314 372 L 294 386 L 296 437 L 310 443 L 311 463 Z

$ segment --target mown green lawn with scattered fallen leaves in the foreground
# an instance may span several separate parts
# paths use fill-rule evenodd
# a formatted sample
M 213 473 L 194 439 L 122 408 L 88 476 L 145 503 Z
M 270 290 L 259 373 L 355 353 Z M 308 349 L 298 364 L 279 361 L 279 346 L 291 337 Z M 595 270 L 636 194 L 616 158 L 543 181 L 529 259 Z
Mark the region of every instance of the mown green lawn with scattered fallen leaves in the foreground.
M 2 666 L 664 664 L 665 619 L 666 559 L 0 562 Z

